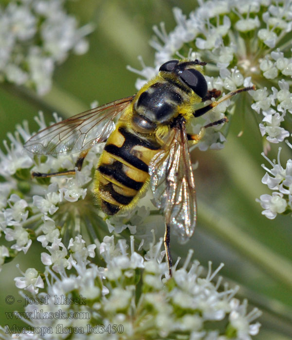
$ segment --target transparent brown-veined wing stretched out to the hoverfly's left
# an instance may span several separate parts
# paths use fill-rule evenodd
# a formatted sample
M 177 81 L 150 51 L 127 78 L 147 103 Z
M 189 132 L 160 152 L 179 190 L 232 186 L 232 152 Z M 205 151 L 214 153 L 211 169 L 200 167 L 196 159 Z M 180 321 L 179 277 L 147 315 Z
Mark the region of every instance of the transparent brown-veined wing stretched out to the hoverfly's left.
M 38 154 L 68 154 L 92 148 L 104 142 L 114 130 L 113 119 L 121 114 L 133 96 L 79 113 L 55 123 L 32 136 L 24 147 Z

